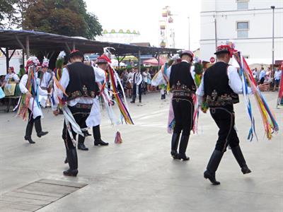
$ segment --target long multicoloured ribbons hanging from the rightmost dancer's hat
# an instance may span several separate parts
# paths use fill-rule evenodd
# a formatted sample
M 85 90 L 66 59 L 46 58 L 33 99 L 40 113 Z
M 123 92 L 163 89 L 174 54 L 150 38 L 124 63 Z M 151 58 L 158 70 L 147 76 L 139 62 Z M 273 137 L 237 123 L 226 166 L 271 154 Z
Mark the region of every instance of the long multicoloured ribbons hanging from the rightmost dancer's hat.
M 272 110 L 270 110 L 270 107 L 267 105 L 267 101 L 265 100 L 262 93 L 260 93 L 260 90 L 257 88 L 255 79 L 253 78 L 253 73 L 250 70 L 248 63 L 246 62 L 246 59 L 243 58 L 241 52 L 235 52 L 233 56 L 238 62 L 241 69 L 244 99 L 250 118 L 250 131 L 248 134 L 248 139 L 250 139 L 251 141 L 253 139 L 253 135 L 255 134 L 255 119 L 253 117 L 250 99 L 248 98 L 247 95 L 248 86 L 250 86 L 253 95 L 255 96 L 255 102 L 257 102 L 258 110 L 260 111 L 262 117 L 262 124 L 265 129 L 265 134 L 267 136 L 267 139 L 270 140 L 272 139 L 272 134 L 276 133 L 279 130 L 279 126 L 276 122 L 275 115 L 273 114 Z

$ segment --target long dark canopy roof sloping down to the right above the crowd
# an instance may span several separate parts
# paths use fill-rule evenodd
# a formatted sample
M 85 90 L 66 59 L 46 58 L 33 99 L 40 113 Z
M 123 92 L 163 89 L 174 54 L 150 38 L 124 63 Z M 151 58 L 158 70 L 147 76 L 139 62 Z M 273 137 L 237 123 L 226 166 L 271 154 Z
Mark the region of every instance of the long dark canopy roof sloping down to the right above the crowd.
M 28 40 L 28 41 L 27 41 Z M 103 53 L 103 47 L 113 47 L 116 55 L 139 54 L 174 54 L 180 49 L 141 47 L 113 42 L 99 42 L 87 40 L 83 37 L 68 37 L 29 30 L 0 30 L 0 47 L 8 49 L 25 49 L 28 42 L 29 49 L 40 51 L 70 52 L 70 49 L 79 49 L 83 53 Z

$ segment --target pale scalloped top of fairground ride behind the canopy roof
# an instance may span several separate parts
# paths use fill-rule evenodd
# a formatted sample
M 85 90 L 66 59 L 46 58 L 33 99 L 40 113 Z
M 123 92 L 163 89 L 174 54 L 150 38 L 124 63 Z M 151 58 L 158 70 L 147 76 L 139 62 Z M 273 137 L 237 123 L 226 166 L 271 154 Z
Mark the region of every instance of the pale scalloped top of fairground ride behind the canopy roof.
M 129 44 L 133 42 L 134 39 L 139 37 L 140 33 L 137 30 L 103 30 L 102 35 L 96 37 L 96 40 L 103 42 L 120 42 L 124 44 Z

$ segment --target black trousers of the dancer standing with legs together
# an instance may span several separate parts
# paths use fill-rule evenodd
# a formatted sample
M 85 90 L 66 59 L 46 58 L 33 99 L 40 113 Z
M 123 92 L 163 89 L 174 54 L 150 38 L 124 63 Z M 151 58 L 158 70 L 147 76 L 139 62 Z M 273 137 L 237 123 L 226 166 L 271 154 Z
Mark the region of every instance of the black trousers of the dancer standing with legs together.
M 175 117 L 174 133 L 180 134 L 183 131 L 183 136 L 190 136 L 192 130 L 194 105 L 192 100 L 172 100 L 173 112 Z

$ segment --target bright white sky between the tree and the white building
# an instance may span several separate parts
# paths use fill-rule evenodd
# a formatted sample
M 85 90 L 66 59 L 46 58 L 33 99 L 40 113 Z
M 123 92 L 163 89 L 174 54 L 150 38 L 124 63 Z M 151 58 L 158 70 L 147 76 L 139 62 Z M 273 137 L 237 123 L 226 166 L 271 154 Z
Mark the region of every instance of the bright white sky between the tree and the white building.
M 190 49 L 200 47 L 200 1 L 193 0 L 85 0 L 87 11 L 98 16 L 103 30 L 136 30 L 141 34 L 137 42 L 150 42 L 158 46 L 159 20 L 162 8 L 171 7 L 175 47 L 188 49 L 190 16 Z M 103 5 L 104 4 L 104 5 Z M 136 40 L 134 40 L 136 41 Z

